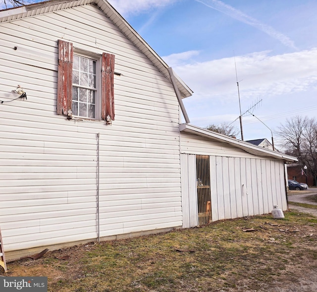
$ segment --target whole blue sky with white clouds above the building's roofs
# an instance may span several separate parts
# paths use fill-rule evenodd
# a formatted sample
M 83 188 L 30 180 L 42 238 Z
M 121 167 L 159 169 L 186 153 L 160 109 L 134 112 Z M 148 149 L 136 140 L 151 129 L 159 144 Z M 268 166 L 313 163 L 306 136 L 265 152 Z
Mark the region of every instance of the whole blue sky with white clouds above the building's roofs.
M 240 129 L 235 63 L 242 113 L 262 100 L 253 114 L 272 130 L 287 117 L 316 117 L 317 1 L 109 2 L 194 91 L 184 99 L 192 124 Z M 248 113 L 243 132 L 271 137 Z

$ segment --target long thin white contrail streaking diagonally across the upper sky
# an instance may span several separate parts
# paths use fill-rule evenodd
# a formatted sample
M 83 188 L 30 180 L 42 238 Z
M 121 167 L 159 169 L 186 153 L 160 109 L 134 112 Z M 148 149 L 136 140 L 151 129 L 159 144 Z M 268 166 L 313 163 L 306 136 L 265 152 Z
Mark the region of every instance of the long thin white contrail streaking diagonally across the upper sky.
M 243 13 L 242 11 L 235 9 L 234 7 L 220 1 L 220 0 L 195 0 L 197 2 L 200 2 L 212 9 L 218 10 L 224 14 L 229 15 L 232 18 L 235 18 L 241 22 L 244 22 L 246 24 L 249 24 L 253 27 L 256 27 L 260 30 L 262 30 L 264 33 L 268 34 L 270 37 L 277 39 L 280 41 L 283 45 L 298 50 L 296 46 L 294 45 L 294 42 L 287 36 L 283 35 L 282 33 L 276 31 L 274 28 L 272 28 L 269 25 L 266 25 L 264 23 L 261 23 L 259 20 Z

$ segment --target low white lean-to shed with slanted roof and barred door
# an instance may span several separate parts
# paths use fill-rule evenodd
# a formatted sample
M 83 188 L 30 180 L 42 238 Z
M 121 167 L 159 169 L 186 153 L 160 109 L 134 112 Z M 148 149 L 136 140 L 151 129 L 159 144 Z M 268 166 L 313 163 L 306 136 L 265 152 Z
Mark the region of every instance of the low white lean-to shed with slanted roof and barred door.
M 184 228 L 287 210 L 284 164 L 294 157 L 189 124 L 180 137 Z

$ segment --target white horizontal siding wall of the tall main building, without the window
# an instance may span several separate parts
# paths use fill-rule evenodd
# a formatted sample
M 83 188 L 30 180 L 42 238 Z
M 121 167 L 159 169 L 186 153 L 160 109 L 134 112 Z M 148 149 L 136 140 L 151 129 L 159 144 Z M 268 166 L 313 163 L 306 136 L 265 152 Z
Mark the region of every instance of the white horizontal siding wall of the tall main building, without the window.
M 179 109 L 168 80 L 94 5 L 0 25 L 0 226 L 5 250 L 182 225 Z M 57 40 L 115 55 L 115 120 L 56 115 Z M 13 47 L 17 46 L 17 50 Z

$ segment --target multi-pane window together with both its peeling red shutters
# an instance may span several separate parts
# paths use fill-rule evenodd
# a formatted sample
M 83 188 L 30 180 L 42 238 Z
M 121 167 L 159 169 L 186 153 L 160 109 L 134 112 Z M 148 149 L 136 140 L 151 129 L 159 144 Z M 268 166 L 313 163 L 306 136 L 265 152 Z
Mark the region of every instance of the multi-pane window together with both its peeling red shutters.
M 92 55 L 93 56 L 93 55 Z M 73 53 L 73 44 L 58 40 L 57 114 L 114 120 L 114 55 L 94 58 Z

